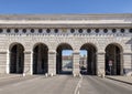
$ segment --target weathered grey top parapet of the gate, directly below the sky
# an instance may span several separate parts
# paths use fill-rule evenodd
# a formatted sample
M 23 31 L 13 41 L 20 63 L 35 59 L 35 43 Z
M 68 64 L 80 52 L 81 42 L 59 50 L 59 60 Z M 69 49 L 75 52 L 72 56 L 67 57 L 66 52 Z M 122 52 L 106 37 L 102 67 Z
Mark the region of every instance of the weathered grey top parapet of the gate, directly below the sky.
M 132 18 L 132 13 L 61 13 L 61 14 L 0 14 L 0 20 L 59 20 L 59 19 L 103 19 Z

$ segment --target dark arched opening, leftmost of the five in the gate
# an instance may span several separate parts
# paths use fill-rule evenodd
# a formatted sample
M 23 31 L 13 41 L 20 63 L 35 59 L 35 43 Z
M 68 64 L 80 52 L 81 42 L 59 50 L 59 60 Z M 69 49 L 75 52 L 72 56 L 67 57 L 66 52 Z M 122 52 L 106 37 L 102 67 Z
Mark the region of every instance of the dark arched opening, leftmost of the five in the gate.
M 24 70 L 24 48 L 16 43 L 10 48 L 10 73 L 21 74 Z

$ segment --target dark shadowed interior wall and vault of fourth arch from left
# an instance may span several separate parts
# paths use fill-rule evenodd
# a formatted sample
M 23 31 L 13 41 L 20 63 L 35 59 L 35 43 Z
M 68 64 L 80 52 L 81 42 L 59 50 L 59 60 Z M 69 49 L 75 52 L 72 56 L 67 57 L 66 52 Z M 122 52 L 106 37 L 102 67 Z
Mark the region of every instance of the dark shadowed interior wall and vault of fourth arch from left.
M 81 50 L 87 51 L 87 56 L 86 56 L 86 62 L 84 62 L 86 63 L 86 66 L 84 66 L 82 62 L 79 62 L 80 73 L 88 74 L 88 75 L 96 75 L 97 74 L 97 54 L 96 54 L 97 49 L 96 46 L 91 43 L 86 43 L 80 48 L 80 51 Z M 84 67 L 86 69 L 86 72 L 84 72 Z

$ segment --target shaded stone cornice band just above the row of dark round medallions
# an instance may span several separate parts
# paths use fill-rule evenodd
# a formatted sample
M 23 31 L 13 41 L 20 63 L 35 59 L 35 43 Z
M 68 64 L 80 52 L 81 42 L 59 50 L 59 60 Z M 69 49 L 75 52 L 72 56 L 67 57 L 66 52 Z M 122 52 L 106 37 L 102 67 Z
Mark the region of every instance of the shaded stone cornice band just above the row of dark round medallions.
M 110 23 L 110 24 L 0 24 L 0 28 L 132 28 L 132 23 Z

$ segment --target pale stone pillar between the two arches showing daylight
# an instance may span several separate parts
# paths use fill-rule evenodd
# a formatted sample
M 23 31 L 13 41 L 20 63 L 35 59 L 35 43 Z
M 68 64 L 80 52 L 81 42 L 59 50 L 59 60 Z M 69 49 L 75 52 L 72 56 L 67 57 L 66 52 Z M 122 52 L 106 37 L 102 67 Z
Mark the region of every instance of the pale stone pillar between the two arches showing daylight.
M 79 59 L 80 59 L 79 51 L 74 51 L 73 52 L 73 74 L 74 74 L 74 76 L 80 74 Z

